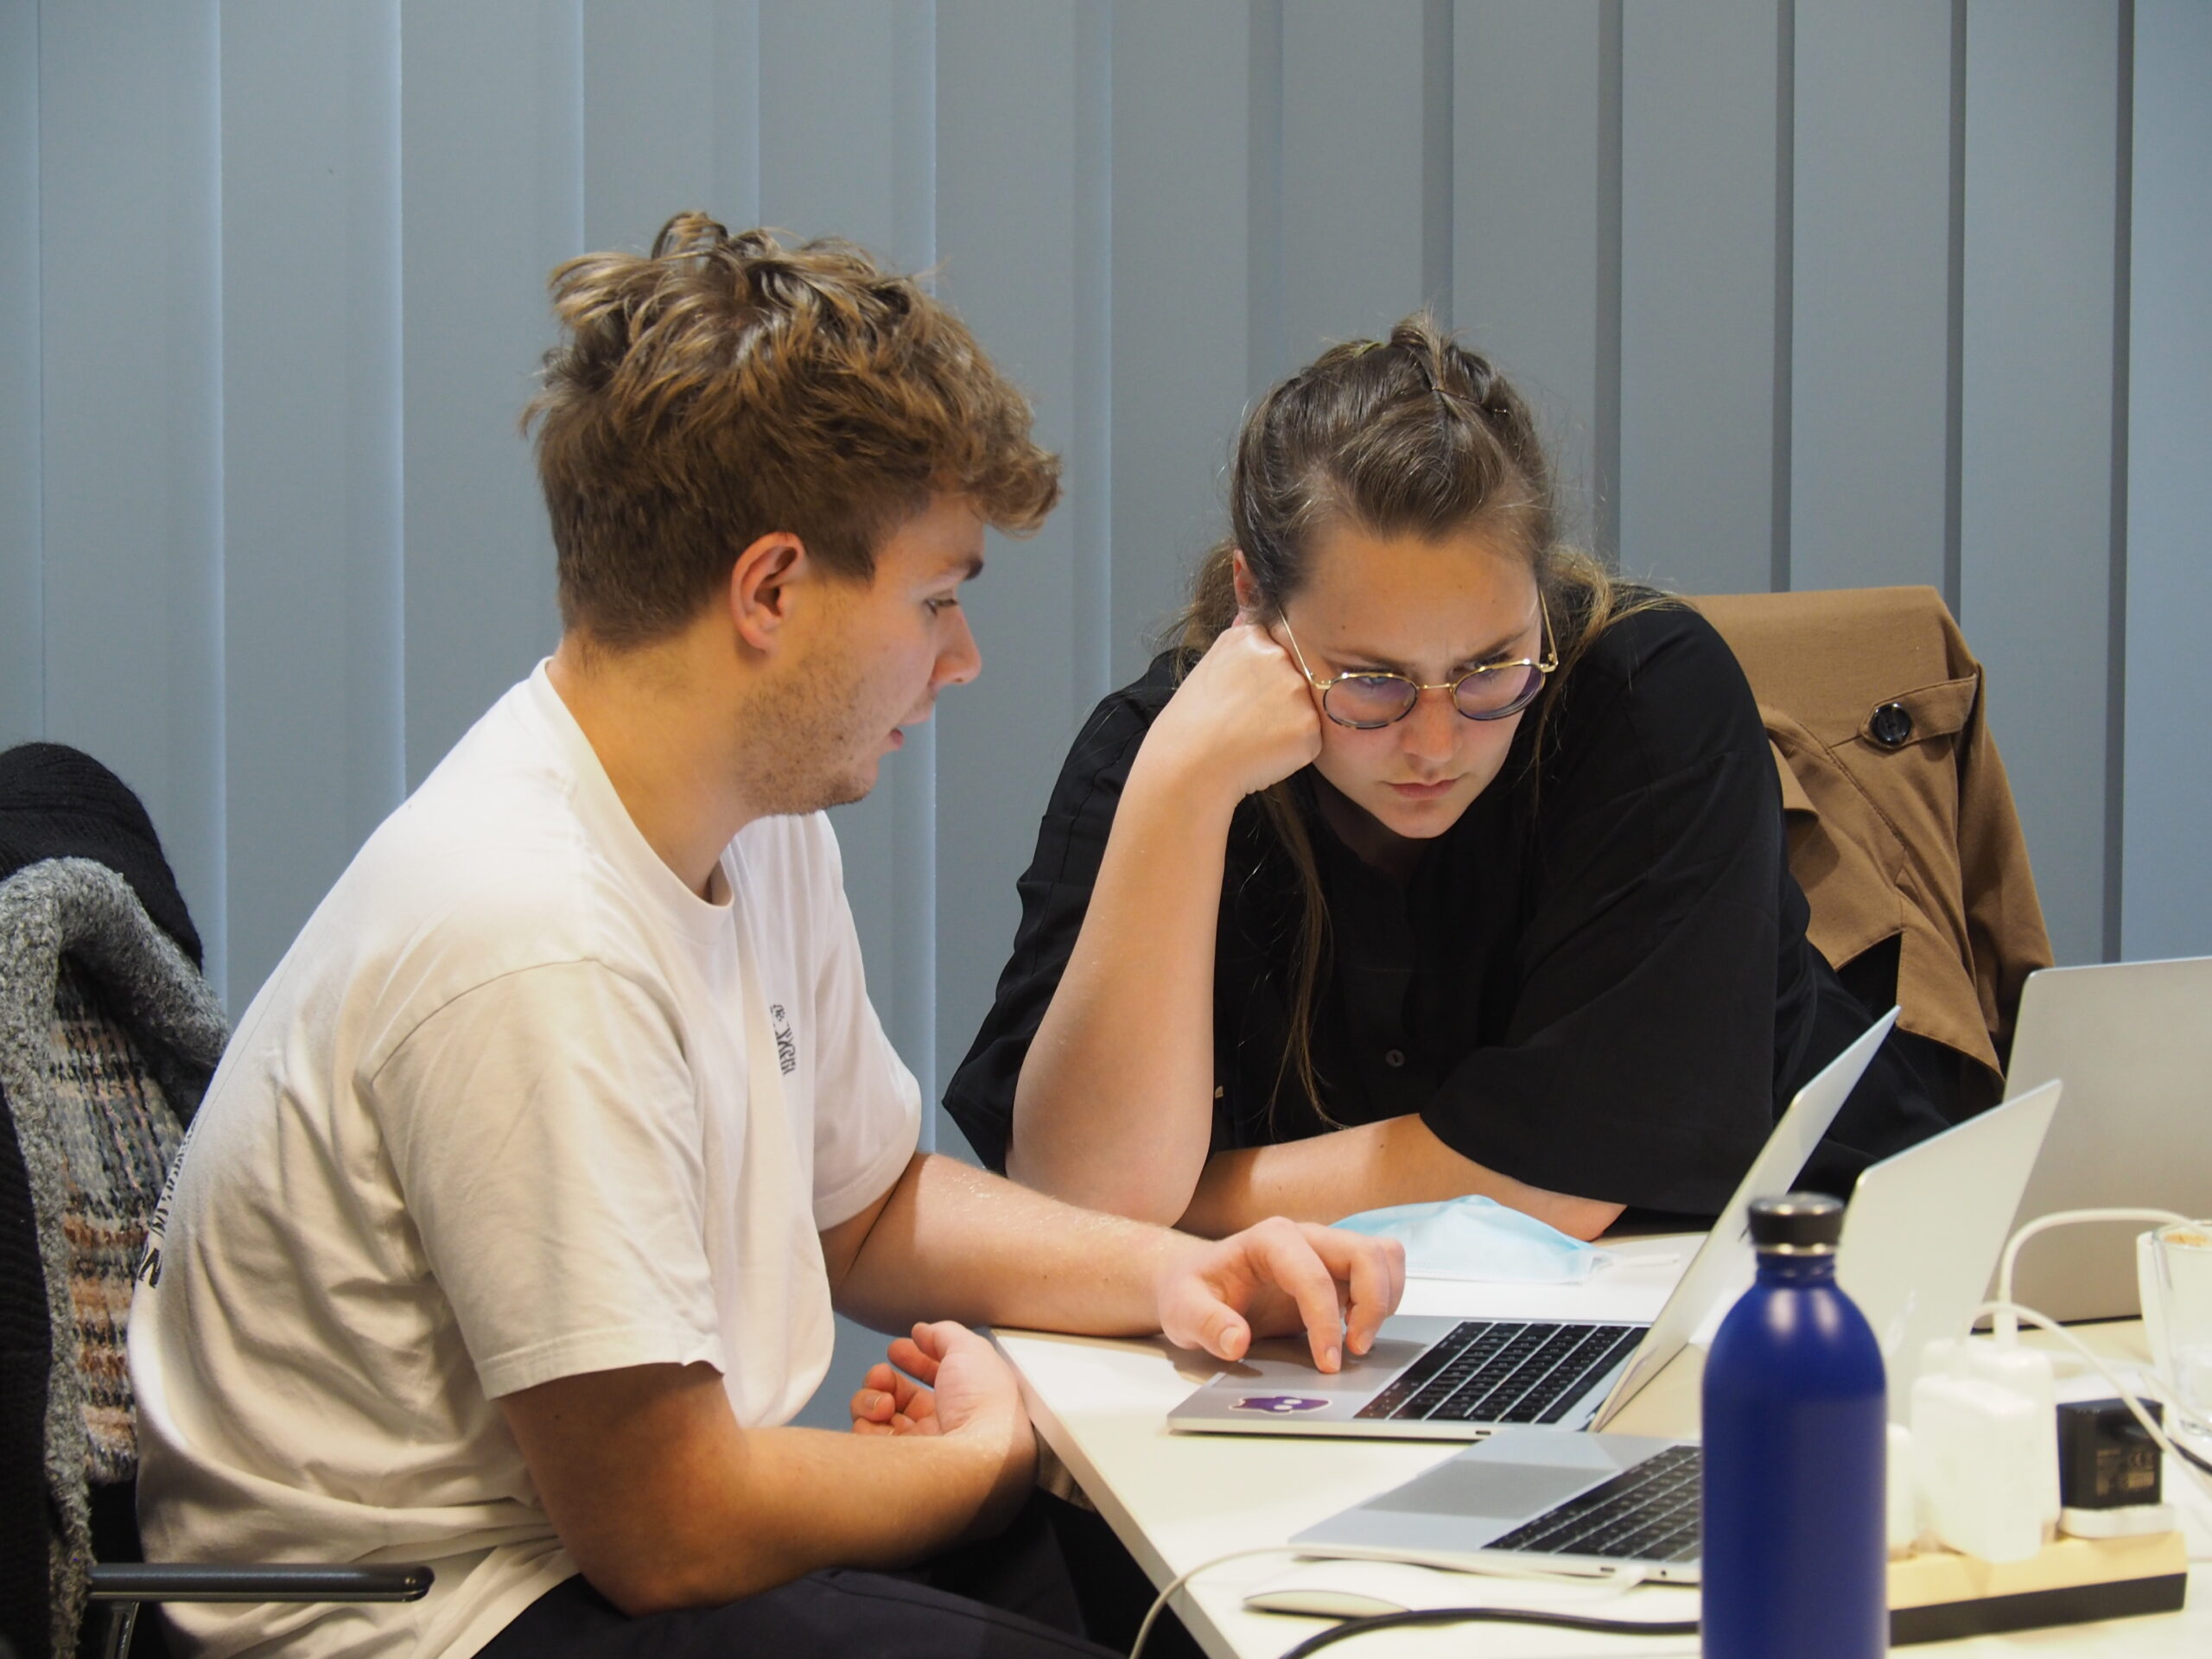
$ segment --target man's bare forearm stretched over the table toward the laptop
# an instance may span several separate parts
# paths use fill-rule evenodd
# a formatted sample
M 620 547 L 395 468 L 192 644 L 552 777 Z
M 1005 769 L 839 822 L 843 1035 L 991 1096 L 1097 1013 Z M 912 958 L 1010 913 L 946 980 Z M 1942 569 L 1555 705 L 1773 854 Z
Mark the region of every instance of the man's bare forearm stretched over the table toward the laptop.
M 1077 1210 L 949 1157 L 907 1166 L 838 1281 L 838 1310 L 878 1329 L 916 1318 L 1088 1336 L 1159 1329 L 1159 1274 L 1190 1239 Z

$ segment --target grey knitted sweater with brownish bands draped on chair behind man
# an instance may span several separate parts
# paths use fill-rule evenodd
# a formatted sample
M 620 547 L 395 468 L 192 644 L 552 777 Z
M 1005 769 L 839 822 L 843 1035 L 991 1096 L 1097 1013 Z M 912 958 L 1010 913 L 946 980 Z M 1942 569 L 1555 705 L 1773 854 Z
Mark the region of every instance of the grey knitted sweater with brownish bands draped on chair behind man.
M 146 1221 L 228 1022 L 179 949 L 199 940 L 135 796 L 35 748 L 44 781 L 84 792 L 31 794 L 33 849 L 93 856 L 20 863 L 27 796 L 0 792 L 0 1637 L 66 1655 L 91 1489 L 137 1471 L 124 1332 Z M 0 757 L 7 783 L 22 757 Z

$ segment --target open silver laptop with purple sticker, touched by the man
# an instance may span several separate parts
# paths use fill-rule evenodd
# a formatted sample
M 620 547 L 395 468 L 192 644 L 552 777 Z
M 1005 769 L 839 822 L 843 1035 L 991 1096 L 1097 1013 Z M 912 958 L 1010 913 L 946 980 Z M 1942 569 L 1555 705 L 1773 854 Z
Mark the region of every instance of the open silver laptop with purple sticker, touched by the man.
M 1750 1283 L 1750 1203 L 1787 1192 L 1882 1046 L 1891 1009 L 1805 1084 L 1650 1323 L 1396 1314 L 1334 1376 L 1283 1347 L 1201 1387 L 1168 1427 L 1194 1433 L 1323 1433 L 1480 1440 L 1509 1422 L 1604 1427 L 1681 1352 L 1721 1296 Z M 1978 1285 L 1980 1290 L 1980 1285 Z

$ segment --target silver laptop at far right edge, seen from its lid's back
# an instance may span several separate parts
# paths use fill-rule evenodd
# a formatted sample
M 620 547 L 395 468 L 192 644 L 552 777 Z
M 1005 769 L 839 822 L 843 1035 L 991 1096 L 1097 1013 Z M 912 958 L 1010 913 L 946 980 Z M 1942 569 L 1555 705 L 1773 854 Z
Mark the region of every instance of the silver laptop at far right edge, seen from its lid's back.
M 2028 978 L 2006 1097 L 2066 1079 L 2015 1225 L 2150 1206 L 2212 1217 L 2212 956 Z M 2132 1318 L 2146 1221 L 2066 1228 L 2020 1252 L 2013 1296 L 2053 1318 Z

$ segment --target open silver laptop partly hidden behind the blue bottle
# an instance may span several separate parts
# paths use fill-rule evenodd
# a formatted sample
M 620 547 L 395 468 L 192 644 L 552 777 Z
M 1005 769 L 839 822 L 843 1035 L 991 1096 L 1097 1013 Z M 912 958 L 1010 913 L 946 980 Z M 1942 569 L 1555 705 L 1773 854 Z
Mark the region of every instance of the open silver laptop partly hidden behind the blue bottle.
M 1920 1343 L 1955 1336 L 2051 1128 L 2059 1086 L 1997 1106 L 1858 1177 L 1836 1279 L 1882 1340 L 1891 1407 Z M 1889 1358 L 1891 1345 L 1898 1356 Z M 1648 1579 L 1699 1577 L 1697 1444 L 1515 1427 L 1292 1537 L 1312 1555 Z

